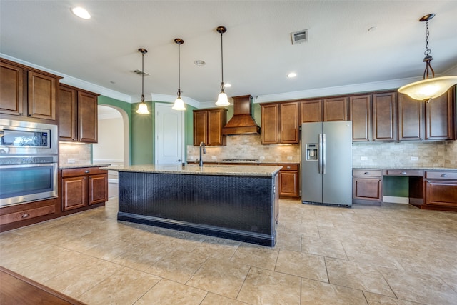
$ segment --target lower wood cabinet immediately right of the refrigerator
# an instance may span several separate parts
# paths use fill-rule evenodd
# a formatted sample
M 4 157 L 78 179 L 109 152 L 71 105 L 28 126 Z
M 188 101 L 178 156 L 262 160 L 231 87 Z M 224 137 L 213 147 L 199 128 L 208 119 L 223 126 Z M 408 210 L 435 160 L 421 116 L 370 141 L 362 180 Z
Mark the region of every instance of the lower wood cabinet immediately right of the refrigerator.
M 383 200 L 383 174 L 381 169 L 353 169 L 354 204 L 381 204 Z

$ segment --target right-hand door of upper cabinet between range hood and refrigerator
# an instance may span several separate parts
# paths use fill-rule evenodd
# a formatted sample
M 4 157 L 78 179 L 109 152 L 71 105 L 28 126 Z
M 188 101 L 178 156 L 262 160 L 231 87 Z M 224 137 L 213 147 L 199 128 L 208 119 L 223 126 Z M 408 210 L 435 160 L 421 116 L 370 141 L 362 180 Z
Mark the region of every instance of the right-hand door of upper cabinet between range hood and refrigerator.
M 298 143 L 298 102 L 279 104 L 281 144 Z

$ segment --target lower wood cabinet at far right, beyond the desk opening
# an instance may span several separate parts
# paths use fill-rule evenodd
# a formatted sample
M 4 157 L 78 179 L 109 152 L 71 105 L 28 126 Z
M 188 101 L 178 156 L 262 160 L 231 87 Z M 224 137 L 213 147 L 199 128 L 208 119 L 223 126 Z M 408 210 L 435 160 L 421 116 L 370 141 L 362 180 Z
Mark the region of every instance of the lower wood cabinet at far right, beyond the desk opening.
M 425 209 L 457 211 L 457 171 L 426 171 Z

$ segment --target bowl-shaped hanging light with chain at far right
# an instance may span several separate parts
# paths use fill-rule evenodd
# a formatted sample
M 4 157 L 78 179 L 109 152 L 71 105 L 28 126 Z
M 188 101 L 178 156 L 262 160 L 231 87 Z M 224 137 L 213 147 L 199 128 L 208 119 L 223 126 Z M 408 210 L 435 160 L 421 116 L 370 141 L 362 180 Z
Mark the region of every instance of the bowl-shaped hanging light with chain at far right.
M 435 71 L 431 67 L 431 61 L 433 57 L 430 55 L 431 49 L 428 49 L 428 20 L 432 19 L 435 14 L 428 14 L 423 16 L 419 21 L 426 21 L 426 51 L 423 53 L 425 57 L 423 62 L 426 63 L 426 69 L 423 71 L 423 80 L 416 81 L 412 84 L 407 84 L 398 89 L 398 92 L 403 94 L 408 94 L 413 99 L 418 99 L 420 101 L 430 101 L 441 94 L 444 94 L 448 91 L 451 86 L 457 84 L 457 76 L 442 76 L 435 78 Z M 430 76 L 431 71 L 431 77 Z

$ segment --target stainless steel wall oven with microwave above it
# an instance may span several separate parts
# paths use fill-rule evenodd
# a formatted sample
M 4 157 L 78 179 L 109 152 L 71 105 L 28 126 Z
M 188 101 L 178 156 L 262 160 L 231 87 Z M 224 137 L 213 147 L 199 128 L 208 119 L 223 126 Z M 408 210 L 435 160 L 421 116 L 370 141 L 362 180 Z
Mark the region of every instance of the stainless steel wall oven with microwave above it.
M 57 126 L 0 119 L 0 206 L 56 197 Z

